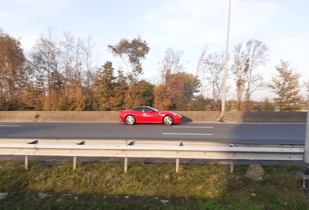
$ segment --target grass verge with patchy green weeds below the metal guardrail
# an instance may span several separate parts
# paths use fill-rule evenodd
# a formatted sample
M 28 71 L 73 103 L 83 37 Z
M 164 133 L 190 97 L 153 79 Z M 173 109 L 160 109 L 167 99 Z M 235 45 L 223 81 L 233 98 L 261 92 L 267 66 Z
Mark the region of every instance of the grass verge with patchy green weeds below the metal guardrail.
M 295 171 L 303 166 L 264 167 L 262 181 L 243 175 L 247 166 L 119 162 L 0 161 L 0 210 L 309 210 Z M 38 193 L 49 196 L 39 198 Z M 162 201 L 161 201 L 162 200 Z M 165 200 L 165 201 L 164 201 Z M 168 202 L 166 202 L 168 200 Z M 166 202 L 166 203 L 164 203 Z

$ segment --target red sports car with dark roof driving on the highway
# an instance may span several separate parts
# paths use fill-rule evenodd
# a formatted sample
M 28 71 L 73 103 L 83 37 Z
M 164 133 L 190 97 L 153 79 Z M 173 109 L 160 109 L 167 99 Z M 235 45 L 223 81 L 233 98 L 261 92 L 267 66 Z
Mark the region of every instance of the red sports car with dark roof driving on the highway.
M 137 106 L 120 111 L 119 121 L 129 125 L 135 123 L 164 123 L 170 125 L 181 123 L 182 116 L 169 111 L 161 112 L 150 106 Z

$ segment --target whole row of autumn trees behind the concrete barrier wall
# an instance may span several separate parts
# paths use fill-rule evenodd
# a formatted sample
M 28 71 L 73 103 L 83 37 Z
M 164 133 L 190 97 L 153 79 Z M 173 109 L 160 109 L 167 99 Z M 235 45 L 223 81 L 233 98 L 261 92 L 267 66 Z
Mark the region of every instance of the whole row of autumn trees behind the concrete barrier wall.
M 115 111 L 139 105 L 160 110 L 220 110 L 224 52 L 207 54 L 206 45 L 196 69 L 189 73 L 184 52 L 168 48 L 158 63 L 159 80 L 151 83 L 142 78 L 142 61 L 150 48 L 140 36 L 107 46 L 123 61 L 117 71 L 111 61 L 100 66 L 94 49 L 91 35 L 80 38 L 64 31 L 58 36 L 55 28 L 48 28 L 24 54 L 19 39 L 0 29 L 0 110 Z M 256 104 L 251 100 L 254 91 L 266 87 L 257 70 L 267 63 L 268 52 L 256 39 L 235 46 L 228 70 L 234 75 L 237 102 L 230 100 L 227 109 L 274 109 L 273 100 Z M 280 110 L 292 109 L 301 99 L 300 73 L 286 61 L 276 71 L 268 88 L 277 94 L 274 101 Z M 308 84 L 303 84 L 307 90 Z

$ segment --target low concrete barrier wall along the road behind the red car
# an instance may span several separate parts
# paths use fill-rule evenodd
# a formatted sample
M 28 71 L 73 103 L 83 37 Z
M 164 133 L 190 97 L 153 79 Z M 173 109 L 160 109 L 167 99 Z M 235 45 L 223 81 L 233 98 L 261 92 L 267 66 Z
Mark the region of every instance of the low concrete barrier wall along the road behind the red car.
M 221 112 L 177 111 L 184 122 L 218 122 Z M 35 116 L 39 116 L 35 118 Z M 306 123 L 307 112 L 225 112 L 230 123 Z M 119 111 L 0 111 L 0 122 L 119 122 Z

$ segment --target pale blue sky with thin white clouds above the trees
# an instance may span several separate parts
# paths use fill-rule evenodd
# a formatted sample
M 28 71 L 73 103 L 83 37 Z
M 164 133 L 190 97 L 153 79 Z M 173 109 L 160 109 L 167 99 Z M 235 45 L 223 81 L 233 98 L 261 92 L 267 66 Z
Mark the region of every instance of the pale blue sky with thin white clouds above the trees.
M 81 38 L 92 35 L 100 63 L 111 61 L 117 69 L 123 64 L 107 45 L 140 35 L 150 47 L 143 61 L 143 77 L 150 80 L 158 76 L 157 63 L 167 48 L 184 51 L 187 72 L 194 73 L 205 45 L 208 53 L 226 47 L 229 0 L 0 0 L 0 5 L 0 27 L 21 37 L 26 53 L 39 34 L 54 27 L 60 38 L 63 31 Z M 267 66 L 256 71 L 265 81 L 275 74 L 280 59 L 291 62 L 302 73 L 301 81 L 307 81 L 308 8 L 309 0 L 231 0 L 228 52 L 232 57 L 237 43 L 258 39 L 270 48 Z M 271 94 L 257 91 L 253 100 L 263 96 Z

